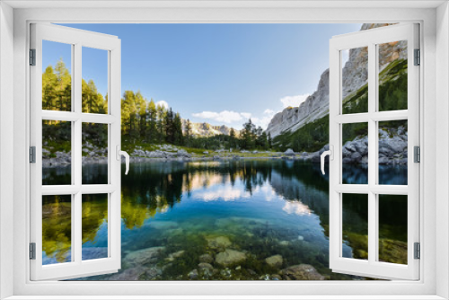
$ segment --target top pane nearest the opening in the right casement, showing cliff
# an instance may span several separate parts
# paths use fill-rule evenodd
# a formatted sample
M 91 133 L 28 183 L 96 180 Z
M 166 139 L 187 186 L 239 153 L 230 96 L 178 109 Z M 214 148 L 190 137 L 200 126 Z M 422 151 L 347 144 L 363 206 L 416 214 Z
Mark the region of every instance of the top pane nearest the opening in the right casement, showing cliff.
M 341 51 L 343 114 L 368 111 L 368 48 Z

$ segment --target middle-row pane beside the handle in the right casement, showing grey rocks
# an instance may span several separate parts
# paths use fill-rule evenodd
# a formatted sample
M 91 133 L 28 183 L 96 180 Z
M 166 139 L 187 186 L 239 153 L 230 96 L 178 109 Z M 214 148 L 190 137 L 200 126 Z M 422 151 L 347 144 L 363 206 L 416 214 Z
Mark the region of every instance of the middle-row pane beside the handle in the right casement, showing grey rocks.
M 368 123 L 343 124 L 342 182 L 368 183 Z

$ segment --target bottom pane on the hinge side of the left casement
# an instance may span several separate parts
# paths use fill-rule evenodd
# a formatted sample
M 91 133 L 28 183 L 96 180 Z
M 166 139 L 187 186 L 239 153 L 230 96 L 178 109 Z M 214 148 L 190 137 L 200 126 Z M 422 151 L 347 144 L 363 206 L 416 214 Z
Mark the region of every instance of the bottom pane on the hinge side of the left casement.
M 42 196 L 42 264 L 71 260 L 72 196 Z

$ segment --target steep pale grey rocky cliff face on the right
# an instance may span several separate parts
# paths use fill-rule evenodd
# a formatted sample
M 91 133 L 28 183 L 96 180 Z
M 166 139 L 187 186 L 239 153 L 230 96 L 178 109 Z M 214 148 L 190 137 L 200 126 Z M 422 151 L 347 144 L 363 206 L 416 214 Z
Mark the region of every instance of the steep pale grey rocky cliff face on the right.
M 391 23 L 363 24 L 361 31 L 392 25 Z M 396 58 L 407 57 L 407 43 L 403 41 L 383 44 L 380 47 L 380 69 Z M 350 49 L 348 61 L 343 67 L 343 98 L 356 93 L 366 84 L 368 52 L 366 48 Z M 269 122 L 267 133 L 276 137 L 282 132 L 293 132 L 315 119 L 329 113 L 329 69 L 321 74 L 317 90 L 299 107 L 288 107 L 278 112 Z

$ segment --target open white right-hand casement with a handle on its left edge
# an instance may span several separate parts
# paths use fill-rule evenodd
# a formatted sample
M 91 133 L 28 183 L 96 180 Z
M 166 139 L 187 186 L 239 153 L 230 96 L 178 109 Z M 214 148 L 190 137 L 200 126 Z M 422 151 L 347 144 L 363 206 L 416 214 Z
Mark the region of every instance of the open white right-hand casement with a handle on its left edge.
M 396 52 L 382 53 L 383 45 L 394 49 L 396 43 L 406 43 L 407 51 L 402 57 Z M 350 110 L 351 103 L 344 98 L 343 51 L 360 49 L 368 52 L 368 80 L 365 90 L 365 110 Z M 419 66 L 416 57 L 418 47 L 418 24 L 397 24 L 379 29 L 360 31 L 336 36 L 330 40 L 330 269 L 339 273 L 372 278 L 410 279 L 419 278 L 419 260 L 415 250 L 419 243 L 419 163 L 414 160 L 414 149 L 419 146 Z M 401 58 L 401 59 L 400 59 Z M 407 103 L 383 103 L 381 93 L 383 69 L 381 59 L 390 59 L 395 67 L 406 69 Z M 401 63 L 400 63 L 401 62 Z M 392 66 L 392 65 L 390 65 Z M 386 74 L 388 75 L 388 74 Z M 390 92 L 388 92 L 390 93 Z M 393 92 L 394 93 L 394 92 Z M 357 100 L 358 101 L 358 100 Z M 363 101 L 363 100 L 360 100 Z M 359 107 L 363 105 L 360 105 Z M 343 181 L 343 172 L 348 166 L 344 160 L 343 146 L 345 130 L 350 126 L 367 128 L 367 181 Z M 408 165 L 408 180 L 400 184 L 381 179 L 380 136 L 384 126 L 405 131 L 408 137 L 407 155 L 401 159 Z M 360 195 L 358 201 L 367 205 L 367 259 L 348 257 L 342 251 L 344 243 L 345 196 Z M 385 196 L 388 196 L 386 199 Z M 382 214 L 380 202 L 386 209 L 388 201 L 402 201 L 407 210 L 407 258 L 401 263 L 385 261 L 382 255 Z M 385 203 L 387 202 L 387 203 Z M 359 203 L 362 204 L 362 203 Z M 400 212 L 396 212 L 400 213 Z

